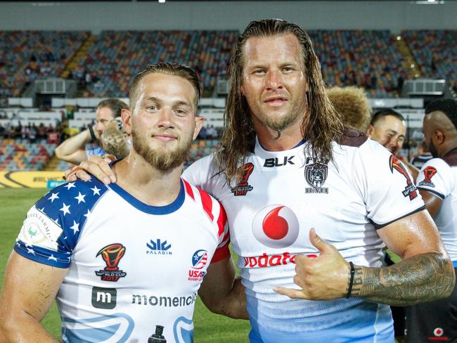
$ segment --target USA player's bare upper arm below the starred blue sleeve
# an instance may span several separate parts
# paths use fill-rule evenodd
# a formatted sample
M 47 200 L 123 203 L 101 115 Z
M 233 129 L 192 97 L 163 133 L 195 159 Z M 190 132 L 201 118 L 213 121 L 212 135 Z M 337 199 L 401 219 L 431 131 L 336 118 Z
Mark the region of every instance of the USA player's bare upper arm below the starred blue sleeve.
M 66 273 L 67 269 L 46 266 L 11 253 L 0 295 L 1 342 L 58 342 L 40 322 L 49 311 Z

